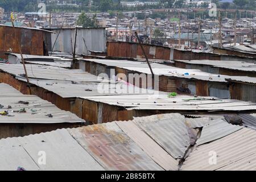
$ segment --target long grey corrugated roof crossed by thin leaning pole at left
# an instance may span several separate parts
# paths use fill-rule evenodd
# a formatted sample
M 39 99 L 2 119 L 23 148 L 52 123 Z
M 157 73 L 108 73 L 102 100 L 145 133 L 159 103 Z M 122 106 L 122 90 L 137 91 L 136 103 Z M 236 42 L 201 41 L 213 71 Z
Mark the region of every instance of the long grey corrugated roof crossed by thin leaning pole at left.
M 34 64 L 27 64 L 26 68 L 32 84 L 52 91 L 63 98 L 148 93 L 146 89 L 138 88 L 123 81 L 112 80 L 110 82 L 108 78 L 102 80 L 101 77 L 80 69 L 64 69 Z M 0 64 L 0 69 L 15 75 L 18 80 L 26 82 L 26 78 L 23 77 L 22 64 Z M 128 90 L 134 90 L 134 92 L 129 93 Z

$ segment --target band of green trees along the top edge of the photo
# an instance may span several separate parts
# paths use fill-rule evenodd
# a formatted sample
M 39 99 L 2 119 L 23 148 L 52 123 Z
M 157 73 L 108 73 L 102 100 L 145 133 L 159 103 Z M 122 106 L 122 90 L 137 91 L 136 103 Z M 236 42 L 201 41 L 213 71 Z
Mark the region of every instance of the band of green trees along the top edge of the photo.
M 58 0 L 61 2 L 61 0 Z M 47 5 L 48 11 L 69 11 L 69 12 L 108 12 L 113 11 L 132 11 L 132 10 L 145 10 L 145 9 L 158 9 L 158 8 L 193 8 L 193 5 L 185 5 L 185 0 L 160 0 L 159 5 L 152 6 L 140 6 L 140 7 L 122 7 L 120 5 L 121 0 L 94 0 L 89 7 L 89 0 L 65 0 L 72 3 L 77 3 L 79 7 L 74 6 L 58 6 L 57 1 L 49 0 L 0 0 L 0 7 L 3 7 L 7 12 L 10 11 L 37 11 L 38 2 L 44 2 Z M 135 1 L 135 0 L 124 0 Z M 147 1 L 147 0 L 139 0 Z M 156 0 L 155 0 L 156 1 Z M 212 0 L 212 3 L 216 3 L 217 7 L 223 9 L 248 9 L 256 10 L 255 0 L 233 0 L 232 3 L 224 3 L 220 0 Z M 201 7 L 207 7 L 204 3 Z

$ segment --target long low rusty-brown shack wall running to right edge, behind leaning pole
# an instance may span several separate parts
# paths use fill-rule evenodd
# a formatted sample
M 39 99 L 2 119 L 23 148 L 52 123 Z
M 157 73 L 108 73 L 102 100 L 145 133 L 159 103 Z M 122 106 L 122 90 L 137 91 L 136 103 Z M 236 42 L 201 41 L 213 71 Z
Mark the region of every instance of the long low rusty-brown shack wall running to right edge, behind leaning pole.
M 256 63 L 254 57 L 228 55 L 225 53 L 210 53 L 200 50 L 180 50 L 164 46 L 142 44 L 148 59 L 161 60 L 232 60 Z M 110 57 L 144 58 L 141 47 L 137 43 L 107 42 L 107 55 Z

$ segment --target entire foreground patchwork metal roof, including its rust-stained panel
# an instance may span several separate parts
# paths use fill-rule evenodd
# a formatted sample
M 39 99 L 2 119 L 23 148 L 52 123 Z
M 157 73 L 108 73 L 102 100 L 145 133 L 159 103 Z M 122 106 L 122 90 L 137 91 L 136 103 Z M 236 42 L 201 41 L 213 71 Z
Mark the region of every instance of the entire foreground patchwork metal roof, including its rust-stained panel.
M 224 118 L 159 114 L 0 139 L 0 170 L 255 170 L 255 141 Z

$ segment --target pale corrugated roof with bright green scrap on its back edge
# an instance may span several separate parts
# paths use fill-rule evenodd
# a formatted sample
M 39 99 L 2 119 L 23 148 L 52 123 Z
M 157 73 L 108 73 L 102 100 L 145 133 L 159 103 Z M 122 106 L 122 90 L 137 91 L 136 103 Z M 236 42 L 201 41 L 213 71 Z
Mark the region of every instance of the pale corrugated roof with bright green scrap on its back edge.
M 133 95 L 133 96 L 97 96 L 81 97 L 85 100 L 101 102 L 104 104 L 123 106 L 127 110 L 255 110 L 256 104 L 253 102 L 244 102 L 238 100 L 219 99 L 212 100 L 214 97 L 197 97 L 201 101 L 193 100 L 193 96 L 176 96 L 169 98 L 167 94 L 159 95 Z M 217 99 L 217 98 L 216 98 Z

